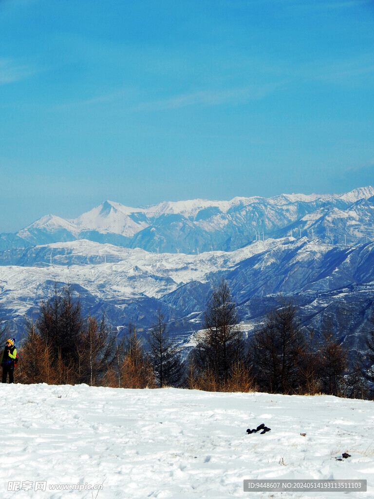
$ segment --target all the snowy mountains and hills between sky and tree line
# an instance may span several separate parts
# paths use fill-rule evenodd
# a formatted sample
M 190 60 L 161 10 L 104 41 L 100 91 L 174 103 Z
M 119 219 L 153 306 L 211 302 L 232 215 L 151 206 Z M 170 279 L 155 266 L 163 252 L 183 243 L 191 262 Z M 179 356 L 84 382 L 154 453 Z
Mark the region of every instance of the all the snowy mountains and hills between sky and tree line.
M 320 331 L 330 317 L 342 341 L 362 349 L 374 309 L 373 205 L 368 187 L 146 209 L 105 202 L 75 220 L 43 217 L 2 235 L 10 248 L 0 251 L 1 315 L 19 336 L 53 283 L 70 282 L 85 312 L 105 311 L 113 326 L 135 322 L 141 333 L 161 308 L 187 341 L 211 286 L 225 278 L 245 331 L 281 293 L 297 301 L 303 324 Z

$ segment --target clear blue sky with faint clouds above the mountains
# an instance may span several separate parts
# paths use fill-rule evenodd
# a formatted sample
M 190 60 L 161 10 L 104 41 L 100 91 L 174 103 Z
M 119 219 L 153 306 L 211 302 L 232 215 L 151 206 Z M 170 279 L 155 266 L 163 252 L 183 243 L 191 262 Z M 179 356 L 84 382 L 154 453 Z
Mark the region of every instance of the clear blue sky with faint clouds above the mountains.
M 0 232 L 374 184 L 374 2 L 0 0 Z

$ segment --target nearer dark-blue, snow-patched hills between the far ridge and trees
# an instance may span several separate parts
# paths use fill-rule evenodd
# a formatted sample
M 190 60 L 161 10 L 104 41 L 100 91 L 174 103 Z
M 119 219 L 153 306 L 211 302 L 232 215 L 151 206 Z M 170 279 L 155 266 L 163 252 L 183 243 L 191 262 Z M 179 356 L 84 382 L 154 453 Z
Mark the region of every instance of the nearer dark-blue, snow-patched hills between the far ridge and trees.
M 248 334 L 282 293 L 297 302 L 304 325 L 320 330 L 330 317 L 346 346 L 362 350 L 373 312 L 374 243 L 283 238 L 187 255 L 79 240 L 3 251 L 0 263 L 1 314 L 16 337 L 54 282 L 60 289 L 70 283 L 84 313 L 105 312 L 120 331 L 131 321 L 146 334 L 160 308 L 184 343 L 200 329 L 211 287 L 222 278 Z

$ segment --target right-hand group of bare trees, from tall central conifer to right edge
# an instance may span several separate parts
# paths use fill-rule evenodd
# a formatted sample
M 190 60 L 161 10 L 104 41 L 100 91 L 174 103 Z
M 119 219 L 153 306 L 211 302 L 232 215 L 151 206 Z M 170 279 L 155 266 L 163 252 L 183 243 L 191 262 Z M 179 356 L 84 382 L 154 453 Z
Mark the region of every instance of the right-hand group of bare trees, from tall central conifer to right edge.
M 367 350 L 347 351 L 330 319 L 318 332 L 302 327 L 295 303 L 280 298 L 244 340 L 222 281 L 213 290 L 191 352 L 189 382 L 205 390 L 373 398 L 374 316 L 371 325 Z

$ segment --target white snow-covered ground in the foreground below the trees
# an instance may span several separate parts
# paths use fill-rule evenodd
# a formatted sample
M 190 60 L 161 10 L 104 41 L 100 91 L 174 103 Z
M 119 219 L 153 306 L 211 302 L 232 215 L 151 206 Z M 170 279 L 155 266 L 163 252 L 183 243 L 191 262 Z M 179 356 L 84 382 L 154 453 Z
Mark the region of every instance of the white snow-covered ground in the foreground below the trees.
M 368 492 L 349 497 L 373 497 L 371 401 L 86 385 L 0 390 L 1 498 L 343 497 L 244 493 L 244 479 L 366 479 Z M 271 431 L 246 434 L 260 423 Z M 351 457 L 338 461 L 344 452 Z M 9 481 L 32 489 L 8 491 Z M 46 490 L 33 490 L 35 482 Z M 50 490 L 86 483 L 103 489 Z

